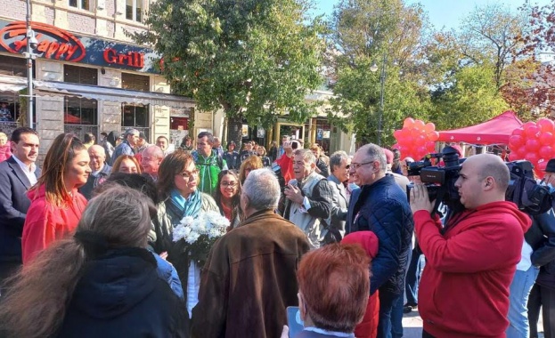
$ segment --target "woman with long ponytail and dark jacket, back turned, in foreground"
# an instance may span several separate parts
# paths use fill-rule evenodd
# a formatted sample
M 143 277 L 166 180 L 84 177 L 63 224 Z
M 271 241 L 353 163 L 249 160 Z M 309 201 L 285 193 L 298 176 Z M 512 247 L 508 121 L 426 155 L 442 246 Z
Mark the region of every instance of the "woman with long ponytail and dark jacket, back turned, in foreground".
M 90 200 L 73 237 L 12 280 L 0 307 L 11 337 L 186 337 L 184 303 L 145 249 L 148 198 L 114 185 Z M 118 226 L 113 226 L 118 224 Z

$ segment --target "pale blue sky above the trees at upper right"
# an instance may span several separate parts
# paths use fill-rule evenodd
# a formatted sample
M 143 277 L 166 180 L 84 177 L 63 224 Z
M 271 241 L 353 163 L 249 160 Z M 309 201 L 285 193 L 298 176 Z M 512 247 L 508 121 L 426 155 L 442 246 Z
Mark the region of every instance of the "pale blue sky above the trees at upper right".
M 316 10 L 314 13 L 331 15 L 333 5 L 338 4 L 339 0 L 314 0 Z M 467 16 L 469 12 L 476 6 L 485 4 L 507 4 L 511 10 L 517 11 L 518 7 L 525 3 L 549 4 L 551 0 L 405 0 L 406 4 L 422 4 L 425 12 L 428 12 L 430 23 L 437 29 L 458 28 L 462 18 Z

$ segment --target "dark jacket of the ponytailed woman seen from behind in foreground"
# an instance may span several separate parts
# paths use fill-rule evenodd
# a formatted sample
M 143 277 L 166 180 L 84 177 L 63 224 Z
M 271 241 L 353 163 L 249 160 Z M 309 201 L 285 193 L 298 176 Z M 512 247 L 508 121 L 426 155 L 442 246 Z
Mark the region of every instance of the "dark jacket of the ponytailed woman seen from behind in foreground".
M 184 302 L 159 278 L 146 249 L 110 251 L 86 263 L 59 337 L 187 337 Z

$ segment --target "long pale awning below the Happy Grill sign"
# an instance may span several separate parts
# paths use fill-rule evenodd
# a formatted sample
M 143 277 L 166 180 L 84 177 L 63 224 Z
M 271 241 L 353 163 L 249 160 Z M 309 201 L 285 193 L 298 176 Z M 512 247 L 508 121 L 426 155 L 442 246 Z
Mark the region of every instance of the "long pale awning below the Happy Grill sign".
M 175 109 L 188 109 L 194 107 L 194 101 L 184 96 L 130 91 L 122 88 L 109 88 L 98 85 L 35 81 L 35 89 L 37 90 L 37 95 L 40 96 L 69 95 L 98 101 L 151 104 L 153 106 L 167 106 Z

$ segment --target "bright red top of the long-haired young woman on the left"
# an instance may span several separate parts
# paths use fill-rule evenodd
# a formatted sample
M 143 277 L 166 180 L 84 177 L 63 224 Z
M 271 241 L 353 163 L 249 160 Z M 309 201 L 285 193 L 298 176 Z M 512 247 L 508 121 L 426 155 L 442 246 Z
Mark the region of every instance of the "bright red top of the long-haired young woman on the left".
M 45 186 L 29 190 L 31 200 L 27 218 L 23 225 L 21 249 L 23 264 L 30 262 L 35 255 L 50 245 L 54 240 L 66 236 L 78 226 L 81 213 L 86 206 L 86 198 L 73 189 L 73 200 L 68 206 L 60 208 L 46 201 Z

